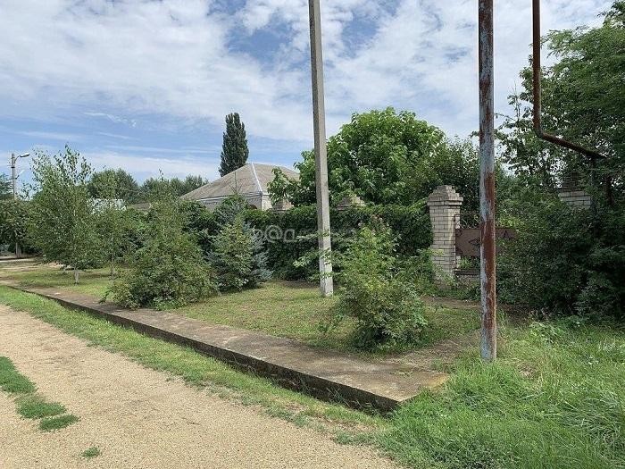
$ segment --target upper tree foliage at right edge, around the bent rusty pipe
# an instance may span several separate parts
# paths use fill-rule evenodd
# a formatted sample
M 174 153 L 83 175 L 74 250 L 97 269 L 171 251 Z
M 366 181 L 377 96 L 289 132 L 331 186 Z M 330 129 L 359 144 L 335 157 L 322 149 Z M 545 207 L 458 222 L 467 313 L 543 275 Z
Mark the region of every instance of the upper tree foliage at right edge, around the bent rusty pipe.
M 532 119 L 531 69 L 521 71 L 522 90 L 511 96 L 516 113 L 499 129 L 504 160 L 529 184 L 554 188 L 574 173 L 603 186 L 607 198 L 623 191 L 625 163 L 625 2 L 614 2 L 598 28 L 552 31 L 546 38 L 554 64 L 543 70 L 543 120 L 547 131 L 596 148 L 589 158 L 538 140 Z

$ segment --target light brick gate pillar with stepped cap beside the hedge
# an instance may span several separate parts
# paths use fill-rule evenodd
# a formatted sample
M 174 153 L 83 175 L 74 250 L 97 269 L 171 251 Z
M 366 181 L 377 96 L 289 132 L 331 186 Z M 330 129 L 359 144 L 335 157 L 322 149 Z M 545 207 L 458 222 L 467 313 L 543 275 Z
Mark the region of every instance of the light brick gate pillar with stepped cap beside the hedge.
M 428 197 L 432 223 L 432 263 L 437 280 L 453 277 L 459 257 L 455 254 L 455 229 L 458 228 L 463 198 L 451 186 L 438 186 Z

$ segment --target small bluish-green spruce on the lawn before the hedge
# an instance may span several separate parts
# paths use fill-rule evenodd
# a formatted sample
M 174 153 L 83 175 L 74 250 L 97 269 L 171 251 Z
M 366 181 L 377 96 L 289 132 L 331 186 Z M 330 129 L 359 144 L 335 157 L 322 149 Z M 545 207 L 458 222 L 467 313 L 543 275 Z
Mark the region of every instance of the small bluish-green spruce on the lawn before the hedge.
M 225 224 L 214 237 L 211 264 L 222 290 L 254 288 L 271 278 L 261 237 L 242 217 Z

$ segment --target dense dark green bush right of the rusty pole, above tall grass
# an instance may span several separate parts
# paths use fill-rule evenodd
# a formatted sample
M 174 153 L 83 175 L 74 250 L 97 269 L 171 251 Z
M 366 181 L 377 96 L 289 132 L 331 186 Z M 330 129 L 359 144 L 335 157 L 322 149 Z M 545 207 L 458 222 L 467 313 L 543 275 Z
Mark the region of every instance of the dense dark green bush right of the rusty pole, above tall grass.
M 542 314 L 625 317 L 625 210 L 580 209 L 547 198 L 527 205 L 519 239 L 500 257 L 506 302 Z

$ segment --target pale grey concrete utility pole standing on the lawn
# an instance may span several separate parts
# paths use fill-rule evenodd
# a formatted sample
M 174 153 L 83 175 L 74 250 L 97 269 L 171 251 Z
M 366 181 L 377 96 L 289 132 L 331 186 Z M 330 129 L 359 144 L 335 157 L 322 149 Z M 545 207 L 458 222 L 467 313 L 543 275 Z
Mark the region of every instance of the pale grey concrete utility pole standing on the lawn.
M 317 187 L 317 229 L 319 230 L 319 273 L 322 297 L 334 292 L 329 227 L 328 151 L 326 112 L 323 99 L 323 53 L 321 49 L 320 0 L 308 0 L 311 32 L 312 120 L 314 122 L 315 183 Z

